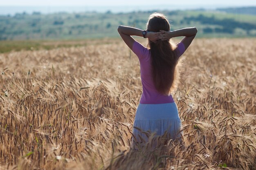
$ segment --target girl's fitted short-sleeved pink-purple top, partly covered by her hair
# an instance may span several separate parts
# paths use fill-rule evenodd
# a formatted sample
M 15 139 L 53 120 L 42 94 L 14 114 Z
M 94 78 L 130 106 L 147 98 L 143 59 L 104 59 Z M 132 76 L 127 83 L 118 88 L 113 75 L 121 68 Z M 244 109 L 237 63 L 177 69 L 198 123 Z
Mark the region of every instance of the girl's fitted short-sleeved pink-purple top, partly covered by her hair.
M 175 53 L 180 57 L 184 53 L 185 47 L 182 42 L 177 44 Z M 153 77 L 151 76 L 150 69 L 150 51 L 135 40 L 132 51 L 139 58 L 142 94 L 139 103 L 140 104 L 164 104 L 173 103 L 172 95 L 160 94 L 154 86 Z

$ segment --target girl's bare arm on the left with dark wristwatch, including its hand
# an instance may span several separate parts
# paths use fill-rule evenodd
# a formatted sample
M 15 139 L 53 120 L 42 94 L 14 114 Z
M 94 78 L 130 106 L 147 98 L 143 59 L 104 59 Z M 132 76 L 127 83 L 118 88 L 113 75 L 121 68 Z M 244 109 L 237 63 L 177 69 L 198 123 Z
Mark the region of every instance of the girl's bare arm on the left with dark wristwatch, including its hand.
M 143 34 L 142 34 L 143 30 L 133 28 L 130 26 L 119 25 L 117 28 L 117 31 L 130 49 L 132 49 L 132 45 L 135 42 L 135 40 L 131 37 L 131 35 L 143 37 Z M 160 32 L 159 33 L 148 32 L 146 37 L 152 41 L 155 41 L 158 39 L 157 35 L 159 35 L 159 34 L 160 34 Z

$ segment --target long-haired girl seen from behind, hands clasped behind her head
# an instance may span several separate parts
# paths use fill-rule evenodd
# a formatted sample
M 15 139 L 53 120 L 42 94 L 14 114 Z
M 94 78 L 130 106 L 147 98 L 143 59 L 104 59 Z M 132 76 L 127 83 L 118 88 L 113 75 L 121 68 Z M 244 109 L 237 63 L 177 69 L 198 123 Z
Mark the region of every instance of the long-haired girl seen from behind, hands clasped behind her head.
M 165 133 L 169 139 L 181 140 L 179 131 L 182 124 L 171 92 L 177 87 L 179 79 L 179 57 L 195 38 L 197 29 L 170 31 L 166 17 L 153 13 L 149 16 L 146 31 L 128 26 L 118 26 L 117 30 L 140 63 L 142 94 L 133 124 L 131 148 L 137 150 L 139 144 L 146 144 L 148 135 L 145 131 L 160 136 Z M 147 47 L 131 35 L 148 38 Z M 177 45 L 170 41 L 179 36 L 185 37 Z M 156 146 L 154 143 L 152 147 Z

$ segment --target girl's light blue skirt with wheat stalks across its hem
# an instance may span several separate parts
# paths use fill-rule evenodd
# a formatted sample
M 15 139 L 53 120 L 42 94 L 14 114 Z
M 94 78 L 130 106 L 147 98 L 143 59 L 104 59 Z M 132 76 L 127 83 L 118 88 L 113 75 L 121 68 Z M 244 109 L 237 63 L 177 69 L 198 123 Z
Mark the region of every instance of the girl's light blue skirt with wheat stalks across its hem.
M 182 141 L 180 134 L 183 132 L 180 132 L 181 128 L 182 124 L 175 102 L 139 104 L 132 129 L 131 148 L 137 150 L 137 146 L 145 146 L 150 135 L 157 137 L 165 132 L 168 139 Z M 148 132 L 150 135 L 148 135 Z M 151 143 L 151 147 L 154 148 L 156 146 L 157 143 Z

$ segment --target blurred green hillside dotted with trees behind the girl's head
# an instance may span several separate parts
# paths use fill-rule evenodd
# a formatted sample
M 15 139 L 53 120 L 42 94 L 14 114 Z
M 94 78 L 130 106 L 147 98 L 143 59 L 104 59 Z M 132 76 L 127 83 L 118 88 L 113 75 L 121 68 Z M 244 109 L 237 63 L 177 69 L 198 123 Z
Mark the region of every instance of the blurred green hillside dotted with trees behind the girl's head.
M 171 30 L 196 26 L 197 37 L 256 37 L 256 15 L 219 11 L 137 11 L 0 15 L 0 40 L 77 40 L 119 37 L 119 25 L 146 29 L 148 16 L 164 13 Z

